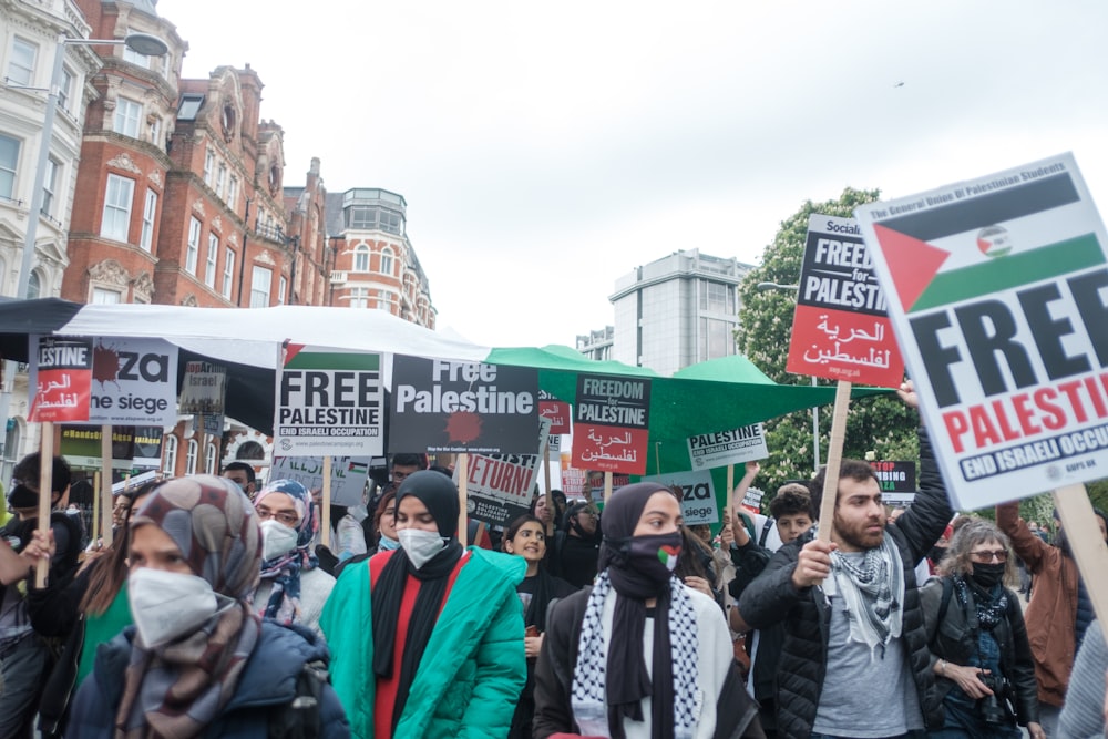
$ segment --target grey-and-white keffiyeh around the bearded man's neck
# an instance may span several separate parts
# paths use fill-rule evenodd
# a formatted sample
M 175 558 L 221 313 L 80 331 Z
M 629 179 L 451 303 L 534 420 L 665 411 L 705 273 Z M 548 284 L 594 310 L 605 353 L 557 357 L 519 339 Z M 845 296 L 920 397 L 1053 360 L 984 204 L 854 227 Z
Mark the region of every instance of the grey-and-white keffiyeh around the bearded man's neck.
M 904 615 L 904 566 L 892 537 L 884 536 L 880 546 L 866 550 L 862 563 L 838 550 L 831 553 L 831 576 L 842 598 L 850 623 L 850 638 L 879 649 L 901 635 Z

